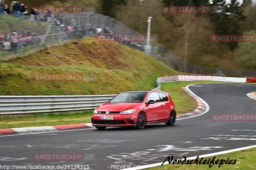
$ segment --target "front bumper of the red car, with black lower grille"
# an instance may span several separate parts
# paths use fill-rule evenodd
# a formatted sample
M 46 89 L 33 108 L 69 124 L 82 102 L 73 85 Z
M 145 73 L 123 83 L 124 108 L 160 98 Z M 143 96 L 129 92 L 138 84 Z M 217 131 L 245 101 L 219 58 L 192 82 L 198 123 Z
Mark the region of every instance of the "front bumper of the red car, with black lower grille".
M 136 126 L 137 114 L 97 114 L 92 116 L 92 125 L 93 126 Z M 101 116 L 113 116 L 113 120 L 109 119 L 100 119 Z

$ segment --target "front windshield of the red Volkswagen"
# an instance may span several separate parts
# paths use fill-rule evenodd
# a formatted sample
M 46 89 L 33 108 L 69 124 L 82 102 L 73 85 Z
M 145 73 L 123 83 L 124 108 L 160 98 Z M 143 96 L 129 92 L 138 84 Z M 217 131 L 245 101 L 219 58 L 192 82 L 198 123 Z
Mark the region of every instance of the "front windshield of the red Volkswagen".
M 118 94 L 109 103 L 141 103 L 147 92 L 123 92 Z

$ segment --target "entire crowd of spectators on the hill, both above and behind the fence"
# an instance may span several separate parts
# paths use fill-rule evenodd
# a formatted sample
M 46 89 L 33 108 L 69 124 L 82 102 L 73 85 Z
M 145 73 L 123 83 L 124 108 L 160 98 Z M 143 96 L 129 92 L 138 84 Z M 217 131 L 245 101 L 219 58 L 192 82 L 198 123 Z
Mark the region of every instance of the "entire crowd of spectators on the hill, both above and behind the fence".
M 18 1 L 12 1 L 10 8 L 8 5 L 4 4 L 4 0 L 0 0 L 0 13 L 4 13 L 6 15 L 11 14 L 14 16 L 24 16 L 28 15 L 27 7 L 23 3 L 19 3 Z M 30 20 L 34 20 L 35 16 L 38 15 L 40 18 L 40 21 L 43 22 L 50 22 L 52 11 L 51 8 L 48 8 L 46 11 L 44 11 L 44 15 L 38 15 L 40 14 L 40 10 L 37 10 L 35 7 L 33 7 L 30 11 Z M 37 18 L 38 19 L 38 18 Z M 76 39 L 76 38 L 82 38 L 84 36 L 97 36 L 97 35 L 111 35 L 113 38 L 113 41 L 116 40 L 115 37 L 118 37 L 119 35 L 117 33 L 113 33 L 108 27 L 104 26 L 102 28 L 96 28 L 95 25 L 91 23 L 84 23 L 81 25 L 78 25 L 74 19 L 70 21 L 70 23 L 66 23 L 65 18 L 55 18 L 53 20 L 53 24 L 56 26 L 61 27 L 61 35 L 60 41 L 67 41 L 68 39 Z M 58 38 L 58 37 L 57 37 Z M 5 35 L 0 34 L 0 47 L 2 46 L 5 50 L 14 49 L 17 47 L 19 42 L 19 47 L 27 47 L 32 42 L 33 44 L 39 43 L 39 41 L 42 38 L 36 37 L 36 33 L 30 34 L 29 32 L 23 31 L 20 35 L 18 33 L 10 33 L 7 32 Z M 31 43 L 31 44 L 32 44 Z M 134 46 L 137 48 L 137 44 L 134 42 L 131 42 L 129 40 L 122 41 L 123 44 L 127 46 Z

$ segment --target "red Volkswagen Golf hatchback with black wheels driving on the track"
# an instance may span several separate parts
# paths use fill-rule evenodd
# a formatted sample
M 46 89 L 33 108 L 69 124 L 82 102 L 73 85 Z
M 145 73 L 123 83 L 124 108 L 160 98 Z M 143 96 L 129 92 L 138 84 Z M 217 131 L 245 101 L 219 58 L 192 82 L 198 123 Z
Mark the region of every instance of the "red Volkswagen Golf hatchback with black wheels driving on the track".
M 175 105 L 169 93 L 156 90 L 121 92 L 97 107 L 92 115 L 92 125 L 97 129 L 108 126 L 143 129 L 148 124 L 175 122 Z

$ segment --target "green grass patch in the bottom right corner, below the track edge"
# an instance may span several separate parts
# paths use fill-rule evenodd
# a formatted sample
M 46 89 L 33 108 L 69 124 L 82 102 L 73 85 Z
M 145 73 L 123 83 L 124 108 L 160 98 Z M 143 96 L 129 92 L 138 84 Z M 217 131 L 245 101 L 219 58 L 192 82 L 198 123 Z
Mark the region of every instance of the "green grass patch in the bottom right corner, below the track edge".
M 171 170 L 171 169 L 182 169 L 182 170 L 190 170 L 190 169 L 198 169 L 198 170 L 204 170 L 204 169 L 225 169 L 225 170 L 244 170 L 244 169 L 256 169 L 256 158 L 255 158 L 256 148 L 251 148 L 243 151 L 237 151 L 237 152 L 230 152 L 222 155 L 217 155 L 215 160 L 217 159 L 225 159 L 229 160 L 236 159 L 236 164 L 234 165 L 226 165 L 222 164 L 220 168 L 218 168 L 219 165 L 213 165 L 211 168 L 209 168 L 209 165 L 177 165 L 177 164 L 168 164 L 164 166 L 156 166 L 152 168 L 147 168 L 147 170 Z M 209 159 L 213 157 L 206 157 L 204 159 Z M 164 161 L 164 159 L 163 159 Z

